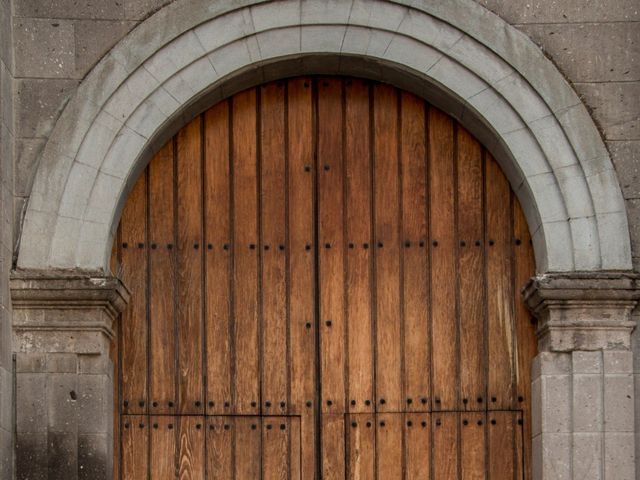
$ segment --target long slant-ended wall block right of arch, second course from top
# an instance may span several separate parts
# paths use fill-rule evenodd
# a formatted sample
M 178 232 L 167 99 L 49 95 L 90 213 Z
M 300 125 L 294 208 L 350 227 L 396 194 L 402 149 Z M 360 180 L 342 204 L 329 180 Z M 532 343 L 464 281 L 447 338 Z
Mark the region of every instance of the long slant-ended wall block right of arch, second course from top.
M 637 23 L 535 24 L 519 29 L 573 82 L 640 80 Z

